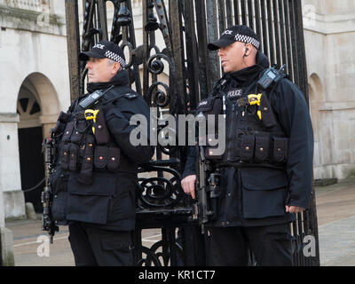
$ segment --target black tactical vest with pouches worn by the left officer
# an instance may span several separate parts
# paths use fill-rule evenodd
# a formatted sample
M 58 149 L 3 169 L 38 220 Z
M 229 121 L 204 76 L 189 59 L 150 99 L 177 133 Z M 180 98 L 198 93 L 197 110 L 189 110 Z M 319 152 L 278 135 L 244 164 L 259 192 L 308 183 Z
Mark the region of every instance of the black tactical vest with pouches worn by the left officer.
M 52 131 L 52 136 L 59 140 L 57 165 L 68 173 L 79 174 L 83 185 L 91 185 L 93 171 L 137 172 L 114 143 L 106 126 L 104 106 L 105 100 L 86 110 L 75 101 L 67 114 L 59 115 Z

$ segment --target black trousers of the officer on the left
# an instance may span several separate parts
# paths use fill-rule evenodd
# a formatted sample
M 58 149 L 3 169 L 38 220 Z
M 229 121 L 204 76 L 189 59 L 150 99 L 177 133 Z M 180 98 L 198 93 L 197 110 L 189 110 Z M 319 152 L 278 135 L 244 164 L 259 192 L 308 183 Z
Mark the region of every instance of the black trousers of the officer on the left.
M 69 225 L 69 242 L 76 266 L 134 265 L 132 233 Z

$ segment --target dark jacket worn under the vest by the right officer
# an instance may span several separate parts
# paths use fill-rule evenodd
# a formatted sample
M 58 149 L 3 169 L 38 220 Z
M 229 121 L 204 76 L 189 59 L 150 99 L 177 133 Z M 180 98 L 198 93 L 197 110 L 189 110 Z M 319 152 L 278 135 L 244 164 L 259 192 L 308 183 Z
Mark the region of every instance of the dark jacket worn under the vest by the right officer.
M 224 91 L 255 84 L 265 66 L 227 74 L 233 77 Z M 270 96 L 280 126 L 289 139 L 288 160 L 283 170 L 263 167 L 224 167 L 215 225 L 271 225 L 293 216 L 285 205 L 309 208 L 312 197 L 312 122 L 302 92 L 282 79 Z M 227 112 L 228 115 L 228 112 Z M 228 121 L 228 120 L 226 120 Z M 226 132 L 228 132 L 226 125 Z M 183 177 L 196 173 L 196 151 L 190 148 Z

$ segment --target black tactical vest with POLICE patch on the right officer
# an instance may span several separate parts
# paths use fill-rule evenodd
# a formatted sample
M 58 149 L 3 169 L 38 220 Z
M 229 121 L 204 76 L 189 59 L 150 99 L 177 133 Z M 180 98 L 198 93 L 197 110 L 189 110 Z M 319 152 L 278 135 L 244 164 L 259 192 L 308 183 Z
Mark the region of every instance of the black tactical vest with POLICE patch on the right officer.
M 260 92 L 256 91 L 256 83 L 232 89 L 217 85 L 215 96 L 201 101 L 197 113 L 225 114 L 225 153 L 216 155 L 216 147 L 206 146 L 207 159 L 219 166 L 284 169 L 288 156 L 288 138 L 278 120 L 274 119 L 269 103 L 274 88 Z M 259 106 L 253 104 L 248 99 L 249 95 L 254 98 L 259 95 L 258 98 L 263 98 L 264 103 Z

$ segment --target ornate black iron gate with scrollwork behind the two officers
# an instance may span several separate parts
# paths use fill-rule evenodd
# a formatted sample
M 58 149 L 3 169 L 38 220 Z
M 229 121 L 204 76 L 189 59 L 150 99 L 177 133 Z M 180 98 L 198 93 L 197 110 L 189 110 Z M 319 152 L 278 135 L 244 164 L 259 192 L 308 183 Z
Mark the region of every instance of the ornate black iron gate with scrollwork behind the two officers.
M 106 17 L 108 2 L 114 5 L 110 29 Z M 142 9 L 143 44 L 139 46 L 132 3 L 140 3 Z M 122 46 L 130 67 L 130 83 L 150 106 L 157 107 L 159 113 L 168 110 L 176 116 L 193 112 L 221 75 L 217 53 L 209 52 L 207 43 L 215 40 L 228 26 L 245 24 L 260 36 L 261 50 L 272 64 L 287 65 L 288 74 L 308 101 L 299 0 L 83 0 L 82 36 L 77 0 L 66 0 L 66 14 L 72 100 L 84 91 L 86 71 L 77 58 L 79 51 L 88 51 L 94 43 L 107 39 Z M 157 36 L 162 36 L 163 48 L 157 46 Z M 169 75 L 165 83 L 161 80 L 164 73 Z M 156 126 L 156 135 L 159 135 L 163 126 L 159 123 Z M 191 219 L 193 203 L 180 188 L 185 156 L 184 146 L 158 146 L 155 161 L 140 168 L 140 172 L 150 175 L 139 178 L 138 264 L 204 264 L 203 236 Z M 141 232 L 148 228 L 162 230 L 162 240 L 151 248 L 143 247 L 141 242 Z M 292 230 L 295 263 L 319 265 L 314 198 L 312 209 L 297 214 Z M 304 256 L 306 235 L 315 240 L 316 256 Z

